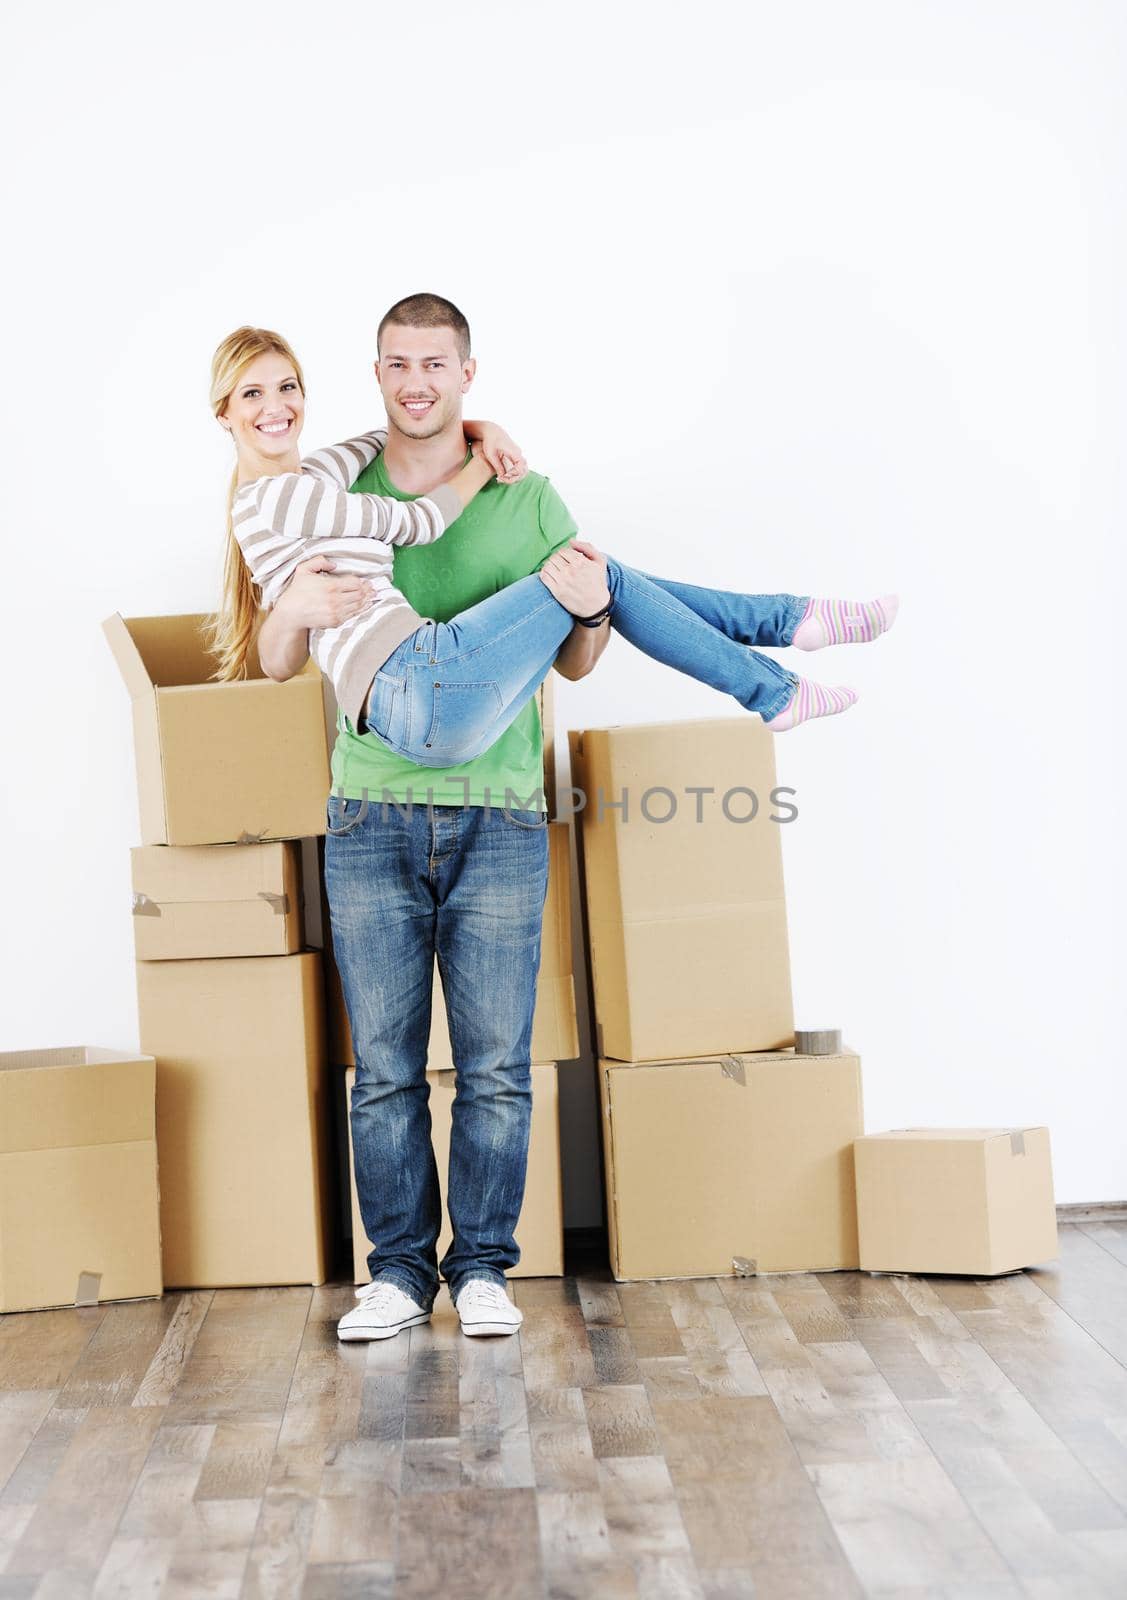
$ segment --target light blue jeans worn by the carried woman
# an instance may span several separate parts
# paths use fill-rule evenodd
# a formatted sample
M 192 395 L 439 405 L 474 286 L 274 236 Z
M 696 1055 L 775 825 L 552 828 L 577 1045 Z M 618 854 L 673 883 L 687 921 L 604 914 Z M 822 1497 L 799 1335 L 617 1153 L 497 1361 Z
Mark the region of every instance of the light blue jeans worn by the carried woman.
M 754 645 L 789 645 L 805 595 L 743 595 L 671 582 L 607 558 L 612 627 L 655 661 L 773 717 L 797 685 Z M 418 766 L 455 766 L 487 750 L 536 693 L 575 618 L 538 574 L 451 622 L 427 621 L 371 685 L 362 731 Z

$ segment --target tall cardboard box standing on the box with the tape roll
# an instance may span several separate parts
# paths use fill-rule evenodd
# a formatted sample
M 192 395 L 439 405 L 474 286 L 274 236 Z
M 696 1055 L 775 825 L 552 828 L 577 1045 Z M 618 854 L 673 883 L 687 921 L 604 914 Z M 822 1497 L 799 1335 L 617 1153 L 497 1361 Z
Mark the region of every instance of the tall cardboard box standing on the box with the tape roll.
M 570 742 L 572 784 L 588 797 L 597 1053 L 653 1061 L 792 1045 L 773 736 L 741 717 L 586 728 Z

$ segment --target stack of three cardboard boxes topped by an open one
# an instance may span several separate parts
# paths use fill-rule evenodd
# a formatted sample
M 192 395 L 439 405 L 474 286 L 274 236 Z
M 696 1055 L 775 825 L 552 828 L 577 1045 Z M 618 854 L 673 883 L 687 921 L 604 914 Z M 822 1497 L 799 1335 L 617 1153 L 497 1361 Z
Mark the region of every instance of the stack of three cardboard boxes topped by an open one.
M 141 1045 L 157 1061 L 163 1278 L 323 1283 L 331 1139 L 299 845 L 325 832 L 320 674 L 210 682 L 203 616 L 104 622 L 133 698 Z

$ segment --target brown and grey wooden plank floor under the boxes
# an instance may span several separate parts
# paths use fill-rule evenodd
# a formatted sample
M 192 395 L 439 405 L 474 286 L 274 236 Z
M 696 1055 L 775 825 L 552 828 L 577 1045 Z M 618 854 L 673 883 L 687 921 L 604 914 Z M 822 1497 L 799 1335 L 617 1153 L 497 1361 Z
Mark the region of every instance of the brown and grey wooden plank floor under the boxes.
M 0 1320 L 2 1597 L 1127 1595 L 1127 1224 L 1004 1278 L 351 1283 Z

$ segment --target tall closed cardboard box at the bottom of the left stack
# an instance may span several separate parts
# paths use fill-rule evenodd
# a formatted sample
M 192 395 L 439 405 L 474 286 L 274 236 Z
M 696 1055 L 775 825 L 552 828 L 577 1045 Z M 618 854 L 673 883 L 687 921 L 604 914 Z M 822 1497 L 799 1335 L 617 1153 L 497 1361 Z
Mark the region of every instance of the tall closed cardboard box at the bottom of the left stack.
M 333 1267 L 320 954 L 138 962 L 157 1058 L 165 1283 L 323 1283 Z

